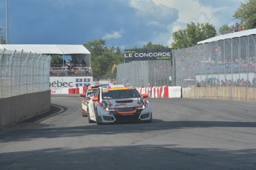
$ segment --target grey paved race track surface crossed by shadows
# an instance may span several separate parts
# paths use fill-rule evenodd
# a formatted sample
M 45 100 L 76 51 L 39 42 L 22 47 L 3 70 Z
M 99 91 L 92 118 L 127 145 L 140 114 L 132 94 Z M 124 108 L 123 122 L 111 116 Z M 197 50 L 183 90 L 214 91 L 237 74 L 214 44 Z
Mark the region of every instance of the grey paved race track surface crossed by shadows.
M 254 102 L 149 99 L 152 123 L 97 126 L 79 98 L 0 131 L 0 169 L 256 169 Z

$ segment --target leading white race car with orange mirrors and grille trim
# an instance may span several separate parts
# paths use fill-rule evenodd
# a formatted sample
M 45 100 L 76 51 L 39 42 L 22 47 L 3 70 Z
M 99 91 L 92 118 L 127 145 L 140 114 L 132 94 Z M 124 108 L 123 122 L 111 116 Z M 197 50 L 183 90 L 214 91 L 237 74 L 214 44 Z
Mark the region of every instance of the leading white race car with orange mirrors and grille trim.
M 128 85 L 99 86 L 88 102 L 88 122 L 122 123 L 151 122 L 151 103 L 145 101 L 148 95 L 142 94 Z

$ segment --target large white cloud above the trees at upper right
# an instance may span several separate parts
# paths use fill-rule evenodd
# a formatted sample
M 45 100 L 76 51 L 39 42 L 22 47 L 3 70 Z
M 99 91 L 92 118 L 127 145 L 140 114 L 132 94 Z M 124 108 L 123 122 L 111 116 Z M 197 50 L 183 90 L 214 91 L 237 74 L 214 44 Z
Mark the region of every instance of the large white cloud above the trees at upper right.
M 166 7 L 173 7 L 178 10 L 179 18 L 172 24 L 172 32 L 186 29 L 186 24 L 209 23 L 218 31 L 223 24 L 232 24 L 234 20 L 232 15 L 239 7 L 237 0 L 153 0 L 155 4 L 163 4 Z M 186 4 L 186 5 L 184 5 Z M 237 22 L 237 21 L 235 21 Z M 173 41 L 170 36 L 168 43 Z

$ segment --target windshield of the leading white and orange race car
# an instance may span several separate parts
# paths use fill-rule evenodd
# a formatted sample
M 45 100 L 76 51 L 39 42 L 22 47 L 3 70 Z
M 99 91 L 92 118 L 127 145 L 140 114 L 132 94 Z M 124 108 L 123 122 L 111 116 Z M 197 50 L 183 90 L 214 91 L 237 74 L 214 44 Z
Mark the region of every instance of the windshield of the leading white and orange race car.
M 108 90 L 102 92 L 102 99 L 107 98 L 140 98 L 140 94 L 136 89 Z

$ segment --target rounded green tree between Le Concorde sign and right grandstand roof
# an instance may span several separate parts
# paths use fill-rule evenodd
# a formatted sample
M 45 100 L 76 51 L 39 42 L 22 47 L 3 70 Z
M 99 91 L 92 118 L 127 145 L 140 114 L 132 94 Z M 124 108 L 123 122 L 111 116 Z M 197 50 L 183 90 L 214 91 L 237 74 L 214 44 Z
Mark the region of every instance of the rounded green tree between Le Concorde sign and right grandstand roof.
M 174 50 L 191 47 L 197 44 L 199 41 L 216 36 L 216 30 L 213 25 L 206 24 L 187 24 L 185 30 L 178 30 L 173 33 L 174 42 L 171 47 Z

